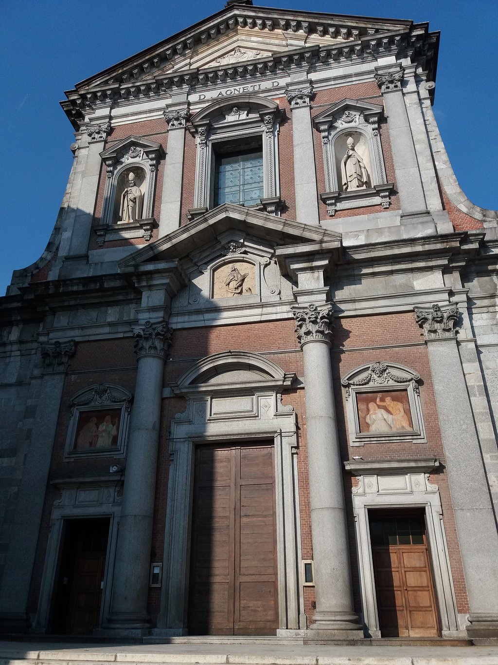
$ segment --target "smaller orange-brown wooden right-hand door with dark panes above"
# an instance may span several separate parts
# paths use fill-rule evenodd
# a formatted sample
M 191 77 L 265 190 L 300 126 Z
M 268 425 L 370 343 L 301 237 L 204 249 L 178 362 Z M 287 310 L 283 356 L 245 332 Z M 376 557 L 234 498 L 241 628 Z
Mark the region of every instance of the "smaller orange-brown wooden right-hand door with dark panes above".
M 423 515 L 371 517 L 370 527 L 382 637 L 437 637 Z

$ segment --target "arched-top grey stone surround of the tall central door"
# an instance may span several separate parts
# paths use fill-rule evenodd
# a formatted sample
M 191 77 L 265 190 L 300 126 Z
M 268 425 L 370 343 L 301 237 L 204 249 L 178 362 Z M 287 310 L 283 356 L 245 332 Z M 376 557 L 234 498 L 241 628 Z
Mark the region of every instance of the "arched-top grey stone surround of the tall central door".
M 275 450 L 280 630 L 305 628 L 300 567 L 296 414 L 282 405 L 295 374 L 258 354 L 203 358 L 171 386 L 187 398 L 171 426 L 161 614 L 155 636 L 187 634 L 195 446 L 272 441 Z

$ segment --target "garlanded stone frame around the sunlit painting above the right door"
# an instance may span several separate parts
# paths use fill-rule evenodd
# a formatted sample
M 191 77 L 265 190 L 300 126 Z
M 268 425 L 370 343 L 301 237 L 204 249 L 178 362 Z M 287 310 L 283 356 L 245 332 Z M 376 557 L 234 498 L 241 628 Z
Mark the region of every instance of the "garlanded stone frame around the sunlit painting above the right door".
M 414 444 L 427 442 L 420 403 L 420 376 L 410 368 L 395 362 L 373 362 L 357 367 L 341 380 L 345 388 L 346 414 L 351 446 L 411 441 Z M 357 396 L 364 392 L 408 392 L 413 431 L 406 432 L 360 432 Z

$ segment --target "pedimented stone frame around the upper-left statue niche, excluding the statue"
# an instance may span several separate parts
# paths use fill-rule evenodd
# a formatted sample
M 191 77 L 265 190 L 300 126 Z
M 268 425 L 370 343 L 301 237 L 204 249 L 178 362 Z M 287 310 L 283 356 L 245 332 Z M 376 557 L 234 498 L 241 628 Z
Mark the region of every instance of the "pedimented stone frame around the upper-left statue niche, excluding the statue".
M 157 222 L 153 219 L 155 182 L 157 164 L 163 156 L 164 150 L 160 143 L 138 136 L 128 136 L 100 153 L 106 165 L 107 178 L 100 225 L 95 229 L 99 245 L 103 245 L 105 240 L 121 238 L 142 236 L 145 240 L 150 239 L 151 230 L 157 227 Z M 139 168 L 145 173 L 142 219 L 137 219 L 136 223 L 114 222 L 118 179 L 131 167 Z

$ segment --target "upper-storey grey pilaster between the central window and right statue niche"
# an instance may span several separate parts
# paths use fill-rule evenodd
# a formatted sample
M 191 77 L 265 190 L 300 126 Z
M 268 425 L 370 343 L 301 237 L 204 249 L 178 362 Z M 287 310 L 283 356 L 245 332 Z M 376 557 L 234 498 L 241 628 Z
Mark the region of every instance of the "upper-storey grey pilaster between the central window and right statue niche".
M 295 218 L 303 224 L 319 224 L 315 148 L 309 112 L 313 86 L 290 88 L 286 96 L 292 110 Z

